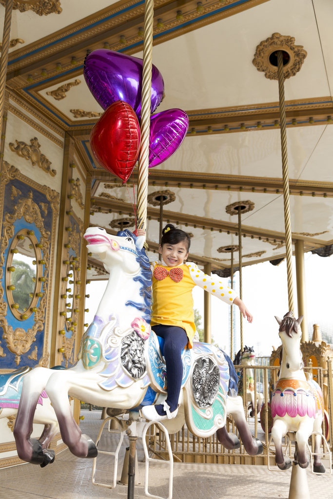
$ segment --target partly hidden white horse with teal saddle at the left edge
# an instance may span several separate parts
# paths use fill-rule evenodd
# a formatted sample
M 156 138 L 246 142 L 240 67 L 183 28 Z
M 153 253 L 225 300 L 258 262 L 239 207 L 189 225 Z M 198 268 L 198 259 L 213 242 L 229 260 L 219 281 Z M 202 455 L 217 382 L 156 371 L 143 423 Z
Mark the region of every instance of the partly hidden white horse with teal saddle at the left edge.
M 21 397 L 23 379 L 31 370 L 31 367 L 25 366 L 7 374 L 0 374 L 0 419 L 16 416 Z M 44 425 L 43 433 L 38 440 L 41 448 L 45 452 L 46 464 L 53 462 L 55 453 L 53 450 L 47 449 L 47 446 L 52 438 L 58 433 L 59 426 L 55 412 L 51 406 L 51 401 L 47 397 L 45 390 L 39 395 L 33 413 L 33 423 Z M 45 438 L 46 433 L 48 433 L 47 438 Z M 46 464 L 41 463 L 41 466 L 46 466 Z

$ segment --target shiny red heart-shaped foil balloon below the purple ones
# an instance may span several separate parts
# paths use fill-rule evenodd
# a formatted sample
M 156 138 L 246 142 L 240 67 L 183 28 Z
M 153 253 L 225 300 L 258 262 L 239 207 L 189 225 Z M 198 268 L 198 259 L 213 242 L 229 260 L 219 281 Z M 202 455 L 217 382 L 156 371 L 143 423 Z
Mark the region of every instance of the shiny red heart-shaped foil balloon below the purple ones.
M 92 127 L 89 140 L 96 160 L 126 182 L 140 146 L 140 126 L 131 106 L 121 100 L 111 104 Z

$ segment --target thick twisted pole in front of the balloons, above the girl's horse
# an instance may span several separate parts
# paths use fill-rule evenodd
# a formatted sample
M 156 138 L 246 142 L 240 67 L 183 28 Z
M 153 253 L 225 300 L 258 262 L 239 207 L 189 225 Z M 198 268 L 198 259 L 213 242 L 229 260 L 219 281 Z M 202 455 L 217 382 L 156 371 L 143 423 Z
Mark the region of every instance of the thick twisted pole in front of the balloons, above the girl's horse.
M 143 35 L 143 66 L 141 92 L 141 142 L 137 191 L 137 228 L 145 230 L 147 222 L 147 193 L 149 168 L 149 131 L 151 102 L 151 66 L 153 51 L 154 0 L 145 1 Z

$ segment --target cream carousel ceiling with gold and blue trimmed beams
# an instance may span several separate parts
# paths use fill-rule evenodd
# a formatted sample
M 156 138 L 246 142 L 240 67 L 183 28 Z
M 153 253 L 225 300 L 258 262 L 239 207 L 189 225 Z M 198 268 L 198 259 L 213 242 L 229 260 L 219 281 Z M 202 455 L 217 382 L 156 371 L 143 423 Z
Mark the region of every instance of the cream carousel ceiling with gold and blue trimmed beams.
M 1 3 L 2 0 L 0 0 Z M 142 57 L 144 2 L 15 0 L 7 88 L 63 132 L 93 177 L 91 224 L 111 233 L 134 227 L 133 187 L 104 171 L 89 145 L 103 112 L 83 78 L 87 51 L 110 47 Z M 98 6 L 98 11 L 96 10 Z M 293 241 L 307 250 L 333 243 L 333 6 L 327 0 L 156 0 L 153 63 L 165 82 L 158 111 L 179 107 L 190 119 L 181 148 L 151 169 L 148 193 L 171 191 L 165 221 L 191 234 L 191 258 L 230 267 L 237 216 L 244 214 L 243 262 L 285 255 L 278 82 L 253 63 L 273 33 L 307 52 L 285 82 Z M 4 9 L 1 9 L 4 15 Z M 159 26 L 157 26 L 157 23 Z M 134 183 L 137 172 L 134 170 Z M 159 207 L 148 205 L 148 241 L 157 250 Z M 113 232 L 112 232 L 113 231 Z M 222 250 L 221 250 L 222 248 Z M 220 251 L 219 251 L 220 249 Z M 150 253 L 154 258 L 153 253 Z M 237 251 L 234 252 L 238 263 Z M 103 268 L 91 260 L 96 276 Z

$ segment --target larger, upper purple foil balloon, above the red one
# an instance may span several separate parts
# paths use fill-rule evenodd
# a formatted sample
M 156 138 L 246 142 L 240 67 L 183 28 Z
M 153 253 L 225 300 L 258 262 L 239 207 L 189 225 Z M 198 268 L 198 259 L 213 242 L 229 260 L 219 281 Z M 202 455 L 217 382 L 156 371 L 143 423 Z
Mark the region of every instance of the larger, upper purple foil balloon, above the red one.
M 98 104 L 107 109 L 117 100 L 127 102 L 141 116 L 142 59 L 100 48 L 90 52 L 84 61 L 84 79 Z M 161 103 L 164 81 L 152 66 L 151 107 L 153 113 Z

